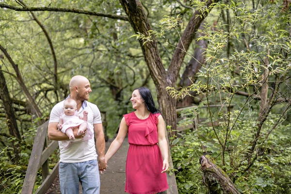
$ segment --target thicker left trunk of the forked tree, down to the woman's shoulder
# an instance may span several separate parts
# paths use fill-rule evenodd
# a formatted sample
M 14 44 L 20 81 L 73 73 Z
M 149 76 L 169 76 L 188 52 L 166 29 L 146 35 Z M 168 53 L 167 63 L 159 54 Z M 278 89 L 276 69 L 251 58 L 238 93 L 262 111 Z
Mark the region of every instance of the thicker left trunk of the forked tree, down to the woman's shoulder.
M 129 17 L 129 23 L 134 29 L 134 32 L 148 36 L 148 31 L 151 30 L 151 26 L 141 2 L 139 0 L 120 0 L 120 3 Z M 171 125 L 172 129 L 176 129 L 176 100 L 169 97 L 166 91 L 166 87 L 174 87 L 176 81 L 173 82 L 167 79 L 157 42 L 153 40 L 144 44 L 144 40 L 139 40 L 139 43 L 150 75 L 156 85 L 160 110 L 165 118 L 166 124 Z M 169 132 L 169 136 L 173 136 L 171 131 Z

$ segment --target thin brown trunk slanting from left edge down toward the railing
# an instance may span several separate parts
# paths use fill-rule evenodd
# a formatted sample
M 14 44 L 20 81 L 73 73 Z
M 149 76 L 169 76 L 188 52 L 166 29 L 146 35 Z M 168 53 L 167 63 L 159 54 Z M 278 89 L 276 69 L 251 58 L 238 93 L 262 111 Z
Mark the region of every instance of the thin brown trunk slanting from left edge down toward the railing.
M 35 114 L 38 117 L 42 117 L 42 113 L 40 112 L 37 104 L 35 103 L 35 100 L 33 99 L 33 97 L 31 96 L 31 94 L 29 93 L 23 79 L 22 76 L 20 74 L 20 71 L 18 69 L 18 65 L 16 65 L 14 63 L 14 61 L 12 60 L 12 58 L 10 57 L 10 55 L 8 54 L 8 52 L 6 51 L 6 49 L 4 49 L 1 45 L 0 45 L 0 50 L 2 50 L 2 52 L 4 53 L 4 55 L 7 57 L 8 61 L 10 62 L 10 64 L 12 65 L 12 67 L 14 68 L 15 72 L 16 72 L 16 80 L 18 81 L 20 87 L 23 90 L 23 93 L 26 95 L 28 101 L 30 102 L 33 110 L 35 111 Z

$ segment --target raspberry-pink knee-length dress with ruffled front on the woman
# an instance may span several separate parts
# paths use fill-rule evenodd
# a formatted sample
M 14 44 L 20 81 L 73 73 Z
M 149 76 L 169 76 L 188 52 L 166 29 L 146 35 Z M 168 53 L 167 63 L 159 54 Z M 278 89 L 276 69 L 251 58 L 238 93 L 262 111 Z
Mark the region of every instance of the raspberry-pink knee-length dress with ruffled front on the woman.
M 150 113 L 146 119 L 139 119 L 134 112 L 124 115 L 129 139 L 125 192 L 129 194 L 156 194 L 168 189 L 157 145 L 159 115 Z

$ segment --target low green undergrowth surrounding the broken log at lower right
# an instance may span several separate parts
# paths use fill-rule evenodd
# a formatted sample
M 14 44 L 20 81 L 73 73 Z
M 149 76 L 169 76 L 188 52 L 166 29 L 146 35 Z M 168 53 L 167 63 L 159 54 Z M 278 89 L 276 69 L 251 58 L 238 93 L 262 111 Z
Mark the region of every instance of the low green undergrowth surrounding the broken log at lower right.
M 273 121 L 270 120 L 266 125 L 271 125 L 271 123 Z M 230 156 L 226 159 L 226 166 L 222 168 L 229 177 L 236 179 L 235 184 L 243 194 L 291 192 L 290 129 L 291 125 L 280 125 L 270 134 L 268 140 L 259 146 L 259 159 L 248 172 L 244 171 L 247 166 L 244 162 L 244 149 L 248 146 L 248 141 L 252 139 L 253 127 L 244 120 L 238 124 L 238 129 L 232 131 L 228 141 Z M 181 137 L 173 138 L 171 146 L 179 194 L 206 193 L 199 158 L 201 155 L 210 154 L 212 162 L 216 165 L 222 163 L 220 157 L 222 149 L 212 129 L 201 124 L 198 129 L 188 130 Z

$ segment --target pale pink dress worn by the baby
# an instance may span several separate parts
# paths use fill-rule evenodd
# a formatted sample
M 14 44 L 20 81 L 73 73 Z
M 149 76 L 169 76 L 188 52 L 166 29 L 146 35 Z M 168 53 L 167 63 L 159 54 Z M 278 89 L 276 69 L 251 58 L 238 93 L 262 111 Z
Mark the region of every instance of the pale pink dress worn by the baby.
M 86 140 L 93 138 L 93 126 L 91 124 L 89 124 L 87 121 L 80 119 L 79 116 L 77 115 L 77 113 L 78 112 L 76 111 L 76 113 L 72 116 L 67 116 L 64 113 L 61 114 L 60 118 L 63 119 L 63 126 L 61 129 L 62 132 L 65 133 L 65 131 L 69 128 L 74 129 L 76 127 L 79 127 L 84 122 L 87 123 L 87 132 L 82 139 L 62 141 L 64 148 L 68 147 L 71 144 L 75 144 L 75 143 L 78 143 L 81 141 L 86 141 Z

